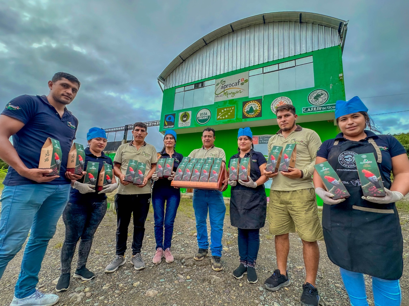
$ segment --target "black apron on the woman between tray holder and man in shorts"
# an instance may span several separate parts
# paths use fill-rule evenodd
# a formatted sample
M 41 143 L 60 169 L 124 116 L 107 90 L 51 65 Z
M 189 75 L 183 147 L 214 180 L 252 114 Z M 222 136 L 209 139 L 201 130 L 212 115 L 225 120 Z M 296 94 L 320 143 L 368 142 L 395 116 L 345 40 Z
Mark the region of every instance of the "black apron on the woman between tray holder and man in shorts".
M 256 172 L 255 165 L 257 164 L 251 160 L 251 155 L 249 156 L 250 177 L 253 182 L 256 182 L 261 175 Z M 238 159 L 240 162 L 241 157 Z M 243 229 L 262 228 L 265 224 L 266 213 L 267 196 L 265 195 L 264 184 L 251 188 L 237 182 L 236 186 L 231 187 L 230 223 L 232 226 Z

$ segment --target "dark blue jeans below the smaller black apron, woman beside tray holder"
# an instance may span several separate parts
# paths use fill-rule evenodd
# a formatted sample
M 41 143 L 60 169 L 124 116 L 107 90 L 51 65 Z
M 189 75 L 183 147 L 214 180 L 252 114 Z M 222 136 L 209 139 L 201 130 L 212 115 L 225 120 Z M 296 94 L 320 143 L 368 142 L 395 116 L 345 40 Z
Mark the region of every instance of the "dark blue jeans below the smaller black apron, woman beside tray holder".
M 238 255 L 240 262 L 254 268 L 260 247 L 260 229 L 237 228 Z

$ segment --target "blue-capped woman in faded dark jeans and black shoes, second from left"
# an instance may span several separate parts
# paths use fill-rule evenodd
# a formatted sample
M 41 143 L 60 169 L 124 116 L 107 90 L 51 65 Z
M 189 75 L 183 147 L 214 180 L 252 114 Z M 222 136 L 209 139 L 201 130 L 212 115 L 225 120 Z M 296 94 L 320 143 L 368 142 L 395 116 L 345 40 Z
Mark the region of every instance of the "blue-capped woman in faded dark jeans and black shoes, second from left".
M 91 128 L 87 134 L 88 147 L 85 148 L 85 164 L 88 162 L 98 162 L 98 176 L 104 164 L 112 165 L 110 157 L 103 153 L 106 147 L 106 133 L 103 129 Z M 81 180 L 83 181 L 83 179 Z M 74 273 L 75 278 L 91 280 L 95 277 L 85 264 L 91 250 L 92 239 L 97 231 L 107 208 L 106 193 L 113 192 L 117 187 L 115 176 L 112 177 L 111 184 L 103 186 L 103 190 L 96 193 L 88 184 L 72 181 L 70 200 L 63 213 L 65 224 L 65 240 L 61 249 L 61 275 L 58 279 L 55 290 L 65 291 L 70 287 L 70 271 L 72 257 L 78 240 L 81 242 L 78 247 L 78 263 Z

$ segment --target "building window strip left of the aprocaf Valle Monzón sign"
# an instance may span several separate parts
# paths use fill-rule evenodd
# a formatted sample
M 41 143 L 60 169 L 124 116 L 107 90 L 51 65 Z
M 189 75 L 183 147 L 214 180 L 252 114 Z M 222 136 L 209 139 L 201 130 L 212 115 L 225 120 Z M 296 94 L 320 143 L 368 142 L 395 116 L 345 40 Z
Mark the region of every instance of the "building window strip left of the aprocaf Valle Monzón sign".
M 214 83 L 213 79 L 176 88 L 173 110 L 213 104 Z

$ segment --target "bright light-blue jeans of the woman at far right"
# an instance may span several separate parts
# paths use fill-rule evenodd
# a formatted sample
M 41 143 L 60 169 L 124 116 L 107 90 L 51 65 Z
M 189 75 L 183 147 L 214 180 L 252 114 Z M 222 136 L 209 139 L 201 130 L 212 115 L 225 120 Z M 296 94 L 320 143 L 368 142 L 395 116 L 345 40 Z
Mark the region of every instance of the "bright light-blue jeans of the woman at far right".
M 352 306 L 368 306 L 364 275 L 339 268 Z M 372 277 L 375 306 L 399 306 L 402 301 L 399 279 L 386 280 Z

